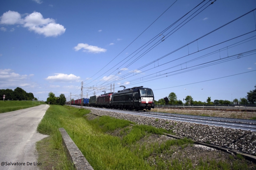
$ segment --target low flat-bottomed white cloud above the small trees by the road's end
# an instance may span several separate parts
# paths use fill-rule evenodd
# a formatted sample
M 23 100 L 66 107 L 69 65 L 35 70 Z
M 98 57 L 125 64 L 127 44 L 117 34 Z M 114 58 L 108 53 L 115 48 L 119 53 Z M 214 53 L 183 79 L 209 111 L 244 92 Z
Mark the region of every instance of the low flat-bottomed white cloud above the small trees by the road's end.
M 63 73 L 55 73 L 55 76 L 48 76 L 46 80 L 53 82 L 77 82 L 80 81 L 79 76 L 75 76 L 74 74 L 63 74 Z

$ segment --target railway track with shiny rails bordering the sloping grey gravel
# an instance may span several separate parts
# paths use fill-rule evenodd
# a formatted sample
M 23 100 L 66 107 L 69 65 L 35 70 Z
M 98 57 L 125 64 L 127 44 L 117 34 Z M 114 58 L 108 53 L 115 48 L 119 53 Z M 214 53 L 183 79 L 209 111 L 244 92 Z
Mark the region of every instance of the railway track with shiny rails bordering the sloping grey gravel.
M 90 108 L 90 107 L 87 107 L 87 108 Z M 210 126 L 219 126 L 224 128 L 256 131 L 256 120 L 195 116 L 195 115 L 180 115 L 180 114 L 157 113 L 157 112 L 140 112 L 140 111 L 106 109 L 106 108 L 98 108 L 98 107 L 93 107 L 93 108 L 104 110 L 104 111 L 112 111 L 112 112 L 119 112 L 124 114 L 154 117 L 159 119 L 167 119 L 167 120 L 180 121 L 180 122 L 190 122 L 190 123 L 204 124 L 204 125 L 210 125 Z

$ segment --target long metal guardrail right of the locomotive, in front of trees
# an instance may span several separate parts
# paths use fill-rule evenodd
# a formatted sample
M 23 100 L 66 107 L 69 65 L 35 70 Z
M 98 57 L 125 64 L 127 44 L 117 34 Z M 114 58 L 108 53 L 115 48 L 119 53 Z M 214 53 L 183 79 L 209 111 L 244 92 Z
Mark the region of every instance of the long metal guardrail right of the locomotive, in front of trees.
M 155 107 L 256 109 L 256 105 L 155 105 Z

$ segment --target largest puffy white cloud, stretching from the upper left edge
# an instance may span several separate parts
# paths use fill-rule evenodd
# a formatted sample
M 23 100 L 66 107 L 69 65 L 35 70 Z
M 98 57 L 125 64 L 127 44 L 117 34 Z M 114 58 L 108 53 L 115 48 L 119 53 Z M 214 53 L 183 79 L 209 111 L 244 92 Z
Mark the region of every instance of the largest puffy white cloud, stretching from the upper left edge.
M 44 34 L 45 37 L 56 37 L 65 33 L 66 28 L 60 24 L 56 24 L 52 18 L 43 18 L 40 12 L 34 11 L 21 19 L 21 15 L 15 11 L 5 12 L 1 17 L 0 24 L 21 24 L 38 34 Z

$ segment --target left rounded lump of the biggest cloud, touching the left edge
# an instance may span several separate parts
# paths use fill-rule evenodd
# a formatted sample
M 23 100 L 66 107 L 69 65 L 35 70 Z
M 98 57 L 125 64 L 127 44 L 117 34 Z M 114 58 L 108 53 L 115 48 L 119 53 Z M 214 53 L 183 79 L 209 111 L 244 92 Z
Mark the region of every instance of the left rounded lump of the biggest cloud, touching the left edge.
M 13 25 L 18 24 L 21 21 L 19 12 L 7 11 L 0 17 L 0 24 Z

